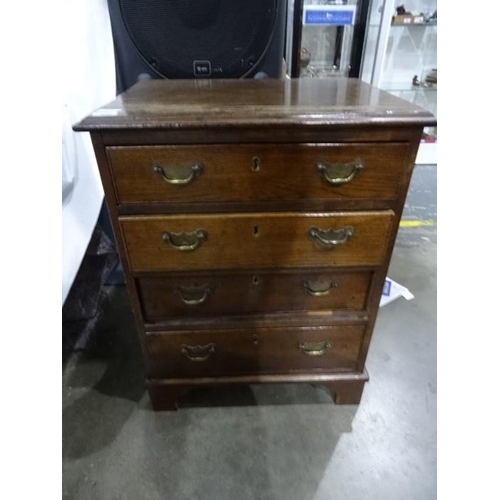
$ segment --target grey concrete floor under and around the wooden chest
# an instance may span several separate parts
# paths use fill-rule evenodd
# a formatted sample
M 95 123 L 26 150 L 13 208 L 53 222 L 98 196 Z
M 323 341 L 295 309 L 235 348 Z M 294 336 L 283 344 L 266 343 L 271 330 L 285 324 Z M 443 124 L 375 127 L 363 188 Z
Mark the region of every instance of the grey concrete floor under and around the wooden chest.
M 359 406 L 309 384 L 189 393 L 154 413 L 123 287 L 95 345 L 63 363 L 67 499 L 436 498 L 436 167 L 418 166 Z M 425 224 L 419 225 L 419 221 Z

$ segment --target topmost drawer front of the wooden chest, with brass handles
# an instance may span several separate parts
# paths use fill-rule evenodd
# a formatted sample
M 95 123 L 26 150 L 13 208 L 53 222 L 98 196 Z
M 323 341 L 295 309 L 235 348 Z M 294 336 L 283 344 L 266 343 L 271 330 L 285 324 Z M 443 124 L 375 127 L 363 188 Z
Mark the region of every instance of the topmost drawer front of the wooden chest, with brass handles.
M 109 147 L 118 202 L 396 198 L 407 145 Z

